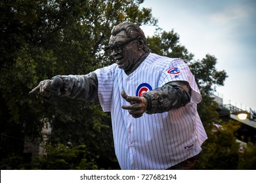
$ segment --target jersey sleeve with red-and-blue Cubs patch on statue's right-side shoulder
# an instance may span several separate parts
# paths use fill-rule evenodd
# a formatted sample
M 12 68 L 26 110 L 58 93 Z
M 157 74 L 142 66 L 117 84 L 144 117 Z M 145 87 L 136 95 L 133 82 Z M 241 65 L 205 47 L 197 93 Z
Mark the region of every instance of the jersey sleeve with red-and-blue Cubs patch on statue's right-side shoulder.
M 190 84 L 190 88 L 192 89 L 192 103 L 200 103 L 200 101 L 202 101 L 202 95 L 200 94 L 194 75 L 192 75 L 188 65 L 184 63 L 182 59 L 173 59 L 173 61 L 171 61 L 167 69 L 165 69 L 161 75 L 160 85 L 162 86 L 167 82 L 175 80 L 184 80 Z

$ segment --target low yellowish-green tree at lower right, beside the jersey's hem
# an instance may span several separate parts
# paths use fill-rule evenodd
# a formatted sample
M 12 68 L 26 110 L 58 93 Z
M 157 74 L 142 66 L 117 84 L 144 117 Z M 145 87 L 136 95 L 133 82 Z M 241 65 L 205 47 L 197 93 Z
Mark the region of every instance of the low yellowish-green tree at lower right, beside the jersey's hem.
M 208 131 L 208 139 L 202 147 L 203 153 L 200 155 L 198 169 L 235 170 L 238 168 L 240 157 L 239 144 L 234 133 L 240 128 L 240 124 L 234 120 L 229 122 L 217 120 L 217 122 L 222 127 L 217 131 Z

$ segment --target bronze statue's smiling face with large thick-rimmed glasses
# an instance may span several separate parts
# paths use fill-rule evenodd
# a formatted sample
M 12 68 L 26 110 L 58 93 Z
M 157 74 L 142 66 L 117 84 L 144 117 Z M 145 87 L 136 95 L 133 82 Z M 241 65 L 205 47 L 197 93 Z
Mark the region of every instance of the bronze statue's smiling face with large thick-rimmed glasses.
M 127 37 L 125 31 L 120 31 L 116 36 L 112 35 L 109 45 L 112 47 L 111 55 L 118 67 L 124 71 L 129 71 L 142 56 L 139 52 L 137 38 Z

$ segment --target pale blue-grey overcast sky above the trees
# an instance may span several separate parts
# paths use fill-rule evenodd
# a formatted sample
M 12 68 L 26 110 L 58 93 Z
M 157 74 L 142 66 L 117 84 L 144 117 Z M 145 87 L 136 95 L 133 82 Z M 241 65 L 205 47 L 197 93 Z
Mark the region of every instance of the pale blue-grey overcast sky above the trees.
M 145 0 L 164 31 L 174 29 L 180 43 L 195 59 L 217 58 L 217 69 L 228 78 L 217 87 L 224 104 L 256 110 L 256 1 L 255 0 Z M 142 26 L 146 36 L 155 27 Z

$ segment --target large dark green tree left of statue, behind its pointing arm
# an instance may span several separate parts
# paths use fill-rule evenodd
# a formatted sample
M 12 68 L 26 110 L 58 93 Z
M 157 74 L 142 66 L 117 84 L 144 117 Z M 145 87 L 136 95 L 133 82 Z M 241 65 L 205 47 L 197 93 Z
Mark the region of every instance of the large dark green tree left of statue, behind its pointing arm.
M 140 8 L 142 2 L 1 1 L 1 167 L 20 169 L 28 163 L 24 142 L 43 141 L 41 128 L 49 122 L 53 128 L 50 146 L 63 144 L 73 149 L 86 144 L 87 154 L 96 157 L 87 162 L 96 163 L 99 169 L 117 168 L 110 114 L 104 114 L 99 105 L 44 99 L 28 92 L 54 75 L 86 74 L 112 63 L 102 48 L 114 25 L 124 21 L 157 24 L 150 8 Z

